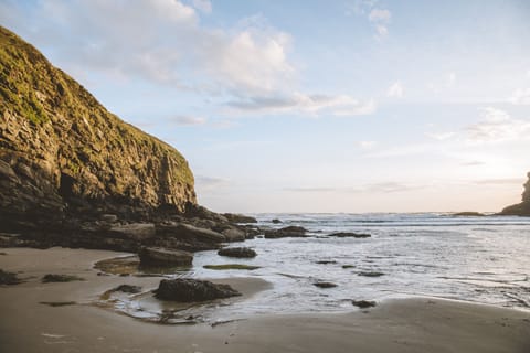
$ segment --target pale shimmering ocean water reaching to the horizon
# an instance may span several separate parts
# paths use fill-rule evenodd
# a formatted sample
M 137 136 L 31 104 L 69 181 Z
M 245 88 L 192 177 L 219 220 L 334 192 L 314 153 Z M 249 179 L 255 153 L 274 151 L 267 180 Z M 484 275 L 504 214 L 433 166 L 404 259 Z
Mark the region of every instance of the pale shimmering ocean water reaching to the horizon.
M 271 289 L 230 306 L 205 308 L 218 320 L 259 313 L 353 310 L 352 300 L 427 296 L 528 310 L 530 303 L 530 218 L 416 214 L 256 214 L 257 226 L 289 225 L 305 238 L 256 237 L 246 246 L 257 257 L 236 259 L 216 252 L 195 254 L 193 268 L 177 277 L 256 277 Z M 274 224 L 278 218 L 282 224 Z M 337 232 L 368 238 L 337 238 Z M 324 261 L 324 263 L 322 263 Z M 256 270 L 210 270 L 204 265 L 246 264 Z M 378 272 L 378 277 L 364 276 Z M 317 288 L 329 281 L 335 288 Z M 141 306 L 141 303 L 140 303 Z

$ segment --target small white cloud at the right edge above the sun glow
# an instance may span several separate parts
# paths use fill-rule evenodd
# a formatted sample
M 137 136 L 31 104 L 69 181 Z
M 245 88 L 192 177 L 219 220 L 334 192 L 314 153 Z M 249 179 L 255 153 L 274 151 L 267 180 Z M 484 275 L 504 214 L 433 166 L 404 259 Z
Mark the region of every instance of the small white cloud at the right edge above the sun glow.
M 481 120 L 465 129 L 469 142 L 499 142 L 529 136 L 530 121 L 513 119 L 508 113 L 492 107 L 480 111 Z

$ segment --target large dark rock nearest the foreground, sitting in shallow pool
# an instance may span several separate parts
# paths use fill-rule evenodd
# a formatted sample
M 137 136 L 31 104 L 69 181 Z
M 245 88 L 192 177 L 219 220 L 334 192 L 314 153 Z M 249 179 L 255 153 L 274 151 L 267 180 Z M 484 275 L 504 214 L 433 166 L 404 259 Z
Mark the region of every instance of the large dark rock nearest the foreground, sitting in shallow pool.
M 180 302 L 206 301 L 241 296 L 229 285 L 191 278 L 162 279 L 155 297 Z

